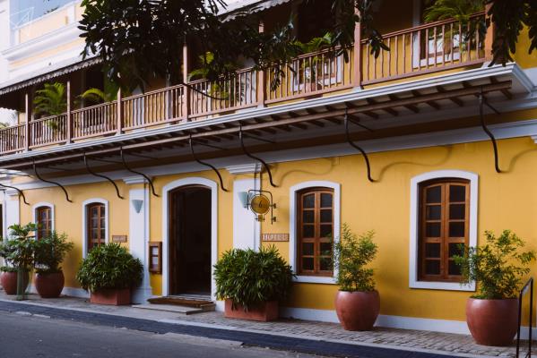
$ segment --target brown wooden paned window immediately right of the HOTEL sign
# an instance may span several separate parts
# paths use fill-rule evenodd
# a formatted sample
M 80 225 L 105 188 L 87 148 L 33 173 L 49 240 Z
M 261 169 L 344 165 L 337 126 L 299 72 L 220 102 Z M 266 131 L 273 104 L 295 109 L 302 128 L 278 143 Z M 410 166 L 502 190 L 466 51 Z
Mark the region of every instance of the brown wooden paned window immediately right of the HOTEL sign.
M 333 276 L 333 190 L 309 188 L 297 199 L 299 274 Z

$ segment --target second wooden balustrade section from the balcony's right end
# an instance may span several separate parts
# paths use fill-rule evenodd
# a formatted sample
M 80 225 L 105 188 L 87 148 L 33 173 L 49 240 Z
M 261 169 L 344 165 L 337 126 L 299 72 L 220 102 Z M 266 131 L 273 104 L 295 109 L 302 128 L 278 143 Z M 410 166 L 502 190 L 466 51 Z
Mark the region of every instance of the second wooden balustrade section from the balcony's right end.
M 352 61 L 345 61 L 339 49 L 300 55 L 291 64 L 267 71 L 266 103 L 301 98 L 351 87 Z M 353 51 L 348 50 L 349 58 Z

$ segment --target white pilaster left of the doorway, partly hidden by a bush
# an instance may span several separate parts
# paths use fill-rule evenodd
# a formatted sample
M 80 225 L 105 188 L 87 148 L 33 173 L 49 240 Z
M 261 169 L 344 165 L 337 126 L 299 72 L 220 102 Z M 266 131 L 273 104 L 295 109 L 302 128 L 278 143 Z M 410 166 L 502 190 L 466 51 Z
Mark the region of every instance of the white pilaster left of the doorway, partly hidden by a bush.
M 143 183 L 143 178 L 126 178 L 126 183 Z M 149 279 L 149 189 L 131 189 L 129 191 L 129 248 L 135 258 L 143 263 L 142 284 L 134 289 L 133 303 L 145 303 L 152 296 L 152 287 Z M 141 206 L 137 207 L 137 204 Z M 139 208 L 139 212 L 136 210 Z

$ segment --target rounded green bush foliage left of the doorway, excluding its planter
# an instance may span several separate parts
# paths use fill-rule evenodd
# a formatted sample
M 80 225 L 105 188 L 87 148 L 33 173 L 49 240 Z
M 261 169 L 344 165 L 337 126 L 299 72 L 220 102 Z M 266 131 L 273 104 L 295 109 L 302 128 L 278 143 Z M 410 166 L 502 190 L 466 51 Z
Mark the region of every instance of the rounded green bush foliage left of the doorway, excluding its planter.
M 85 290 L 121 289 L 140 285 L 143 265 L 125 247 L 107 243 L 91 249 L 82 260 L 76 279 Z

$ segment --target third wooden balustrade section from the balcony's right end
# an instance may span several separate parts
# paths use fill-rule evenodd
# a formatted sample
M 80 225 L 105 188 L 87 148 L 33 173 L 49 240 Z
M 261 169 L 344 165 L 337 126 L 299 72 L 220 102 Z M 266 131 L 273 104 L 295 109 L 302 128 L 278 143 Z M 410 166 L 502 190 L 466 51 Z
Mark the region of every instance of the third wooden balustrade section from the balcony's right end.
M 257 80 L 257 72 L 247 68 L 218 81 L 190 82 L 190 116 L 257 106 Z

